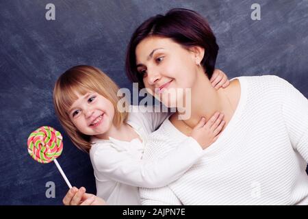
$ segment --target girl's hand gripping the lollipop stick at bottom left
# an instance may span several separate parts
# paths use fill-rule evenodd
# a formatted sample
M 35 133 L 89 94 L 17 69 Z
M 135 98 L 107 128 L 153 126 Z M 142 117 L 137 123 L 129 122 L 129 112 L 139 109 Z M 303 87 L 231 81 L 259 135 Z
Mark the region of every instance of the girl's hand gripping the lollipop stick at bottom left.
M 63 203 L 64 205 L 106 205 L 102 198 L 86 193 L 84 187 L 79 190 L 75 187 L 68 190 L 63 198 Z

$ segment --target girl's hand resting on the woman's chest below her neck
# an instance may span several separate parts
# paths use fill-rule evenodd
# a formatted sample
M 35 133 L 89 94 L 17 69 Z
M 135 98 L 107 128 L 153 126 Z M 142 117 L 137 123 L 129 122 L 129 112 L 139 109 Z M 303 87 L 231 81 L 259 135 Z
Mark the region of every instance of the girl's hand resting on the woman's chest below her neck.
M 196 127 L 192 129 L 190 136 L 201 145 L 202 149 L 206 149 L 217 140 L 224 127 L 222 118 L 224 118 L 224 114 L 216 112 L 206 123 L 205 118 L 201 118 Z

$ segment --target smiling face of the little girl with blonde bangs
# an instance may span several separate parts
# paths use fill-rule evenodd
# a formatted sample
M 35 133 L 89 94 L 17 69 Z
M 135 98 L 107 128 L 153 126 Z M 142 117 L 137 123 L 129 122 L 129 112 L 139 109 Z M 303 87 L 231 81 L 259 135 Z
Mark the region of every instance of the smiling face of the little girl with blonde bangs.
M 77 94 L 70 110 L 70 120 L 85 135 L 98 136 L 106 133 L 113 125 L 114 105 L 97 92 Z

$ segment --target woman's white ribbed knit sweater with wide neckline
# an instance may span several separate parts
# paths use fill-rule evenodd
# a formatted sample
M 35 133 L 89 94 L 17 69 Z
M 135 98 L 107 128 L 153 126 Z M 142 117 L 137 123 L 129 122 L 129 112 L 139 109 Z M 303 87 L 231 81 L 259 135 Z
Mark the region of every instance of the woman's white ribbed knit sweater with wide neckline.
M 308 100 L 277 76 L 238 77 L 229 124 L 177 181 L 140 188 L 143 205 L 308 205 Z M 187 138 L 166 119 L 144 159 L 164 157 Z

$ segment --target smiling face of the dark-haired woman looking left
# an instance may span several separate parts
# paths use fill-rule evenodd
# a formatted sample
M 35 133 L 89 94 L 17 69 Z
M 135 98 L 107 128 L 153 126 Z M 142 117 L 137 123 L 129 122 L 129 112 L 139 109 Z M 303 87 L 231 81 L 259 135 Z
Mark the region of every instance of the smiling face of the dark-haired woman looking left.
M 167 107 L 177 107 L 185 99 L 185 88 L 192 88 L 198 68 L 194 52 L 158 36 L 144 38 L 138 44 L 136 66 L 146 89 Z

